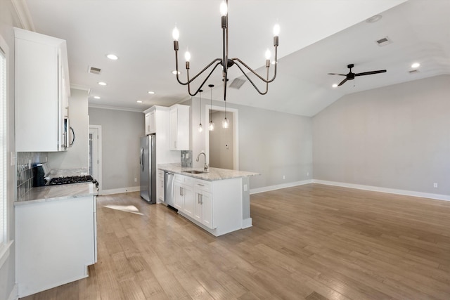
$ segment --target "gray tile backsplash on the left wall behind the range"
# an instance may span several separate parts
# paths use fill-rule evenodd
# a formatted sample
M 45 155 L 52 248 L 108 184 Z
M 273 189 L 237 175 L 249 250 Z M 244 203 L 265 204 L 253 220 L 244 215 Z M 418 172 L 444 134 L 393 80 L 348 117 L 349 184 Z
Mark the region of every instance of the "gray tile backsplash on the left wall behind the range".
M 17 152 L 17 197 L 23 197 L 33 187 L 33 167 L 47 162 L 44 152 Z

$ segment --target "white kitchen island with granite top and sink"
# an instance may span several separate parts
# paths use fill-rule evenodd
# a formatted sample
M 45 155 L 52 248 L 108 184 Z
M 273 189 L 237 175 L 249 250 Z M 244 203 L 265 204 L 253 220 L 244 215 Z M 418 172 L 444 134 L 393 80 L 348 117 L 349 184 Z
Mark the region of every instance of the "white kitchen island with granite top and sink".
M 179 163 L 158 164 L 158 169 L 174 174 L 173 206 L 197 226 L 214 236 L 252 226 L 249 177 L 259 173 L 219 168 L 203 172 Z

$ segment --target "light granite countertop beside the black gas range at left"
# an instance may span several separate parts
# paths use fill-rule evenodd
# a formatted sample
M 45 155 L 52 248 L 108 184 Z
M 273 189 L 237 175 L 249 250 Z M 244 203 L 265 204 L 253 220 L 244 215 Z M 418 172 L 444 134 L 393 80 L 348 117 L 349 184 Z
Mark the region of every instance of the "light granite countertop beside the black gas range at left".
M 16 200 L 14 205 L 87 197 L 97 195 L 97 193 L 97 187 L 94 183 L 46 185 L 32 188 L 23 197 Z

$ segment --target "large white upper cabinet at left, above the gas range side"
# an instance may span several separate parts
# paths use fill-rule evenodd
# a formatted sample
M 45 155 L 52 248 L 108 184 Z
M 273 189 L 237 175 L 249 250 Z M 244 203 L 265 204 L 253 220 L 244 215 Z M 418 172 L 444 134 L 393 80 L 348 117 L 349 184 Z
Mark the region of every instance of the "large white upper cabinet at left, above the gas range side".
M 66 43 L 14 28 L 15 150 L 66 149 L 70 96 Z

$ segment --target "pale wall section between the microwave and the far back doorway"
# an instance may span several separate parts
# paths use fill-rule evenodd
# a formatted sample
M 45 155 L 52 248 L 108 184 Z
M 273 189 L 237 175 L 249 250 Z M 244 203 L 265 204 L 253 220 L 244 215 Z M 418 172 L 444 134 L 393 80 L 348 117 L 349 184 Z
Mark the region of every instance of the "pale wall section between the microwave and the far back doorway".
M 51 168 L 86 168 L 89 164 L 89 117 L 87 91 L 70 89 L 69 122 L 75 131 L 75 141 L 64 152 L 49 152 Z M 72 133 L 70 133 L 72 134 Z

